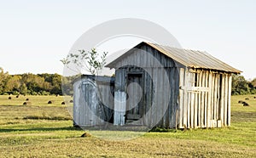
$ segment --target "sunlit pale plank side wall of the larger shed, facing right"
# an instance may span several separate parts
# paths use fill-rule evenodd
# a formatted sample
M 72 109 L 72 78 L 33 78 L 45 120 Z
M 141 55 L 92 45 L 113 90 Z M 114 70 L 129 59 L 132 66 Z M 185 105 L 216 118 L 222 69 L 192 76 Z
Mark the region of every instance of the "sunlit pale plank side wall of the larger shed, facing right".
M 231 74 L 180 69 L 179 128 L 230 126 Z

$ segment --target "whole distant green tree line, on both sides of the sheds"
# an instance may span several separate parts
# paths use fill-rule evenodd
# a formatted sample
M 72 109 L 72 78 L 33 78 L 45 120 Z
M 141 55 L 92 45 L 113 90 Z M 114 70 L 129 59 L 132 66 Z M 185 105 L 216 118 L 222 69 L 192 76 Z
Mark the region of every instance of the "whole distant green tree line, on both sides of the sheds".
M 21 74 L 9 75 L 0 67 L 0 95 L 3 94 L 31 94 L 31 95 L 62 95 L 73 94 L 73 80 L 77 76 L 63 77 L 58 74 Z M 256 78 L 247 81 L 244 76 L 232 76 L 232 95 L 256 94 Z

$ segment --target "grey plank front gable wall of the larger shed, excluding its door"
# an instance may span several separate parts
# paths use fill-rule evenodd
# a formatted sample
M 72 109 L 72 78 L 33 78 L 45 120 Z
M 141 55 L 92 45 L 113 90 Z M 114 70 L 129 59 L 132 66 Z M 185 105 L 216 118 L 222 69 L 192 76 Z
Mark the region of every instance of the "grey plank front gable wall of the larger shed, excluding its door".
M 115 70 L 115 96 L 124 97 L 127 93 L 127 74 L 143 73 L 143 112 L 145 115 L 142 120 L 143 125 L 176 127 L 179 72 L 172 59 L 160 54 L 154 48 L 142 46 L 141 50 L 134 50 L 134 53 L 119 60 L 115 65 Z M 168 86 L 170 96 L 166 96 L 165 93 Z M 117 115 L 114 115 L 114 124 L 123 125 L 125 109 L 120 110 L 118 107 L 125 107 L 124 100 L 126 99 L 116 99 L 115 113 Z

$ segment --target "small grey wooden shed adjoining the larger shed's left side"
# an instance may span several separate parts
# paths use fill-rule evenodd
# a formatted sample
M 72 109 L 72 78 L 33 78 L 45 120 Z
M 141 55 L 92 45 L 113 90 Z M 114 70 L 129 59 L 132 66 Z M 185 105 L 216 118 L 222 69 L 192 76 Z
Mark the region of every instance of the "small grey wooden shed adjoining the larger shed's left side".
M 113 123 L 113 85 L 109 76 L 83 75 L 73 84 L 73 124 L 79 127 Z

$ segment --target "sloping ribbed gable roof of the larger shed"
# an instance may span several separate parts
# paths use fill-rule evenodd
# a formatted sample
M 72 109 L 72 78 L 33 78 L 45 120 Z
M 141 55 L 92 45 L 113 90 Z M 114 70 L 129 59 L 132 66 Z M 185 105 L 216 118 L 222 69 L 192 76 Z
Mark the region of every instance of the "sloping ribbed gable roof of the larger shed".
M 177 61 L 178 63 L 185 65 L 191 68 L 201 68 L 201 69 L 208 69 L 208 70 L 217 70 L 217 71 L 227 71 L 233 72 L 236 74 L 240 74 L 241 71 L 235 69 L 234 67 L 227 65 L 223 61 L 213 57 L 207 52 L 189 50 L 189 49 L 181 49 L 181 48 L 172 48 L 169 46 L 161 46 L 156 43 L 151 42 L 141 42 L 134 48 L 139 48 L 143 44 L 146 44 L 156 50 L 158 50 L 161 54 L 165 54 L 167 57 Z M 107 67 L 113 67 L 120 59 L 125 58 L 125 56 L 132 53 L 130 49 L 125 54 L 119 56 L 119 58 L 114 59 L 110 62 Z

